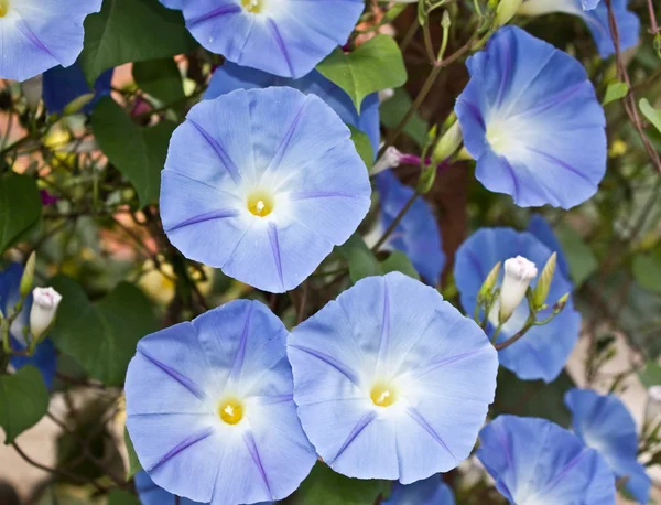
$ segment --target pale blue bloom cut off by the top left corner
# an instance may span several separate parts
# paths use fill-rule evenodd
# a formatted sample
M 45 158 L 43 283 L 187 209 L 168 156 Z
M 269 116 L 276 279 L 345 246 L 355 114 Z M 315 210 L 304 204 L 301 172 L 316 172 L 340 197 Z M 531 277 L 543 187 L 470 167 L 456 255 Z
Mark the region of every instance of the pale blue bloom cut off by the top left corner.
M 0 78 L 26 80 L 73 65 L 83 51 L 83 21 L 102 0 L 0 0 Z

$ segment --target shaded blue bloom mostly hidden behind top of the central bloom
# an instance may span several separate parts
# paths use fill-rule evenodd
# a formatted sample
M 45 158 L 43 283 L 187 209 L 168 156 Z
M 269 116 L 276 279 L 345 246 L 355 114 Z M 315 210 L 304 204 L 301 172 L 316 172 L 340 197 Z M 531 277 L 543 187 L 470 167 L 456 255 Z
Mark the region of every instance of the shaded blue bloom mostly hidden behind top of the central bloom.
M 312 71 L 300 79 L 291 79 L 225 62 L 214 72 L 204 98 L 217 98 L 235 89 L 267 88 L 269 86 L 289 86 L 305 95 L 314 94 L 318 96 L 335 110 L 343 122 L 367 133 L 375 155 L 379 151 L 379 94 L 372 93 L 365 97 L 360 105 L 359 115 L 349 95 L 317 71 Z

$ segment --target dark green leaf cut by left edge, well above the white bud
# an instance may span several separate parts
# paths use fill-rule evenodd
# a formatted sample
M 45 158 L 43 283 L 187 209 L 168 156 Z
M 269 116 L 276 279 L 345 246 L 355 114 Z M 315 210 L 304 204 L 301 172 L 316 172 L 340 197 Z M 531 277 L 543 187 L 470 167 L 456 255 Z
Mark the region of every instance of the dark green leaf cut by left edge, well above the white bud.
M 0 254 L 36 223 L 41 208 L 34 179 L 17 174 L 0 178 Z

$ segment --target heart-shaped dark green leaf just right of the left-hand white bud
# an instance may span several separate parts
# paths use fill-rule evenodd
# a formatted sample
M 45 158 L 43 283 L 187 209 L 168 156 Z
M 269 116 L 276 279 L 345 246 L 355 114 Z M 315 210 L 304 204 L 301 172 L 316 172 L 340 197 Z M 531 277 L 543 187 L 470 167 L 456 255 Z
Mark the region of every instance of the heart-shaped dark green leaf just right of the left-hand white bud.
M 138 341 L 158 325 L 149 299 L 133 284 L 120 283 L 98 303 L 90 303 L 80 286 L 65 276 L 51 280 L 62 294 L 51 337 L 90 377 L 121 386 Z

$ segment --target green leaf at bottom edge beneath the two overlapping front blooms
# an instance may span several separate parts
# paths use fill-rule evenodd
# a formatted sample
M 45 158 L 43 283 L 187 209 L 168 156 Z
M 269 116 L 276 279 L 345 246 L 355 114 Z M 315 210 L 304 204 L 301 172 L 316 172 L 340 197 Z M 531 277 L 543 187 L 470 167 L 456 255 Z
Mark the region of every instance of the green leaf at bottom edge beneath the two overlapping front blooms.
M 349 479 L 317 463 L 294 495 L 295 504 L 373 505 L 388 492 L 388 481 Z

